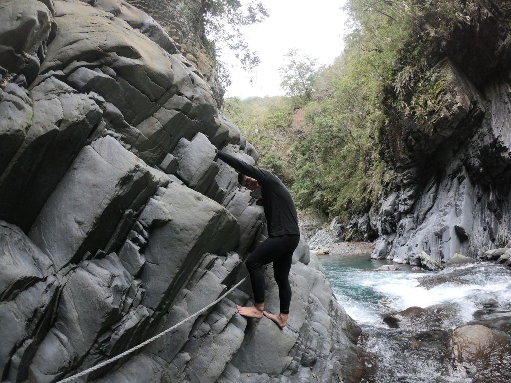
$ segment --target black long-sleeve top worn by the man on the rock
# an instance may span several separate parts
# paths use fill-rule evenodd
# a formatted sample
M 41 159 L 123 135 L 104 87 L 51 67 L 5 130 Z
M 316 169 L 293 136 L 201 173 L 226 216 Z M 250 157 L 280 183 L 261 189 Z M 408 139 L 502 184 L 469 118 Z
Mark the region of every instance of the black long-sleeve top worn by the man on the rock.
M 263 195 L 264 213 L 270 237 L 286 234 L 300 235 L 298 214 L 289 189 L 280 178 L 261 167 L 252 166 L 230 154 L 218 152 L 218 158 L 238 172 L 258 180 Z

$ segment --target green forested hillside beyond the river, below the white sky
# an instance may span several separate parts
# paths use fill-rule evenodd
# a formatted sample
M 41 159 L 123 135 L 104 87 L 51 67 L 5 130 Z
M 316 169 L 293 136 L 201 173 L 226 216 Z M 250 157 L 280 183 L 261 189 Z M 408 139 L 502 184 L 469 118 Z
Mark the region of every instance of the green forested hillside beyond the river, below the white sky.
M 477 3 L 349 0 L 351 32 L 332 65 L 317 71 L 312 60 L 289 56 L 288 97 L 227 99 L 224 114 L 299 208 L 331 217 L 366 212 L 396 177 L 382 150 L 392 121 L 404 116 L 428 130 L 448 89 L 441 78 L 424 86 L 432 83 L 424 74 L 446 55 L 449 36 L 472 22 Z

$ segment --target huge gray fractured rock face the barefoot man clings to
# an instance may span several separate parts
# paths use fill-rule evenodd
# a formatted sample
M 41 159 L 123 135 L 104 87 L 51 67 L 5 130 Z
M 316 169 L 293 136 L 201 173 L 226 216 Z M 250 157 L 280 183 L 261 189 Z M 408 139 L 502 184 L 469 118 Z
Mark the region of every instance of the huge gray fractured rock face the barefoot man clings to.
M 0 66 L 0 380 L 96 365 L 246 274 L 263 208 L 214 149 L 258 153 L 151 17 L 122 0 L 5 0 Z M 284 330 L 237 314 L 245 282 L 87 381 L 356 381 L 360 328 L 304 239 L 290 280 Z

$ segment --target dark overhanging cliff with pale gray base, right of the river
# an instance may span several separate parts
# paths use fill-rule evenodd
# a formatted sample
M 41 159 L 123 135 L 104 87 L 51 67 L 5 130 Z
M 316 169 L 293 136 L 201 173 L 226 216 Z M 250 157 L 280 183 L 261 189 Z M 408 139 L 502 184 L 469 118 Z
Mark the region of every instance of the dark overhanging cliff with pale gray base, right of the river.
M 509 240 L 511 9 L 484 1 L 478 9 L 447 44 L 449 59 L 423 76 L 424 89 L 445 94 L 427 123 L 396 112 L 383 132 L 381 155 L 398 180 L 378 206 L 374 258 L 476 258 Z

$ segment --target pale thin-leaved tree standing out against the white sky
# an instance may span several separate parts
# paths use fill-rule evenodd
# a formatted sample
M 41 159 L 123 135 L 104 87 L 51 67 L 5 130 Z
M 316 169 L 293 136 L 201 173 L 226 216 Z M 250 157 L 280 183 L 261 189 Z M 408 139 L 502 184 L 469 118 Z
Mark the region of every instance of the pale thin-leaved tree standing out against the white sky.
M 288 64 L 279 69 L 282 75 L 281 88 L 295 101 L 311 101 L 319 71 L 317 59 L 307 57 L 297 49 L 292 49 L 285 57 Z

